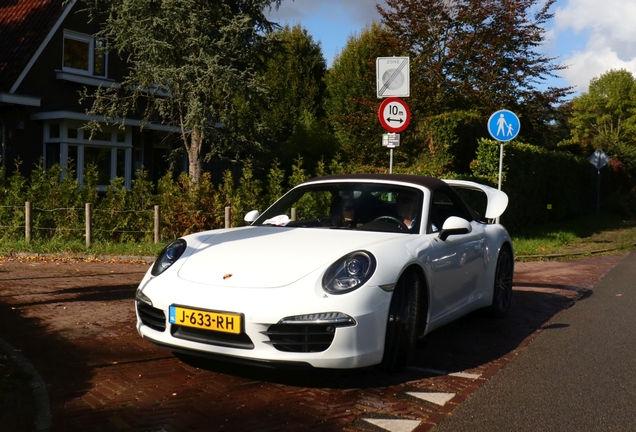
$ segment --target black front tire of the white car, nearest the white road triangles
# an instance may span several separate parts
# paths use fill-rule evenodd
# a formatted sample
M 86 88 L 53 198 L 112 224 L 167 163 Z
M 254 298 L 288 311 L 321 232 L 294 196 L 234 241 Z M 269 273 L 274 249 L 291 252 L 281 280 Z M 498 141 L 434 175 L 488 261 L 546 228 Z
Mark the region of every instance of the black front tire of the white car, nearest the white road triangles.
M 396 372 L 404 369 L 418 337 L 421 281 L 412 270 L 398 280 L 389 306 L 380 369 Z

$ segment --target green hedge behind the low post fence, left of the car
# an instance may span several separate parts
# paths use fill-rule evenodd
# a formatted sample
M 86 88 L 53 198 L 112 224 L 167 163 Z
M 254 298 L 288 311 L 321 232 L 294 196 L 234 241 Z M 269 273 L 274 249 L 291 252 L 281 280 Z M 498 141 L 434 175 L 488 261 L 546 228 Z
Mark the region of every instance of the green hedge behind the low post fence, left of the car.
M 137 171 L 132 187 L 116 178 L 102 193 L 95 187 L 97 171 L 88 167 L 80 185 L 73 170 L 56 165 L 49 169 L 37 166 L 26 178 L 17 169 L 6 176 L 0 168 L 0 238 L 24 238 L 25 202 L 32 207 L 34 240 L 83 240 L 85 233 L 85 203 L 92 204 L 92 235 L 95 241 L 152 242 L 154 238 L 154 207 L 161 210 L 161 238 L 222 228 L 225 208 L 231 208 L 231 225 L 244 224 L 250 210 L 265 210 L 290 187 L 311 175 L 298 159 L 287 177 L 277 163 L 271 167 L 266 187 L 255 179 L 252 164 L 246 162 L 241 178 L 235 182 L 226 171 L 219 185 L 205 173 L 198 185 L 185 174 L 166 173 L 156 185 L 144 169 Z M 320 162 L 317 175 L 344 172 L 336 157 L 329 166 Z

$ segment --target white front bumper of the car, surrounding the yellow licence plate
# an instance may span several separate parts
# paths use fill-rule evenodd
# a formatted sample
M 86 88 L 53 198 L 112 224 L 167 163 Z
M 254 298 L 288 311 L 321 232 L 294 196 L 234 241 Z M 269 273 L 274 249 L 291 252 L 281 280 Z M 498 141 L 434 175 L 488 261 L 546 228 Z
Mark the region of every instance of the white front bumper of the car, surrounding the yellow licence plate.
M 342 296 L 323 296 L 318 301 L 290 298 L 291 301 L 275 310 L 264 311 L 265 296 L 263 290 L 246 293 L 241 296 L 241 309 L 234 302 L 210 300 L 194 303 L 186 299 L 187 296 L 175 296 L 172 302 L 156 302 L 155 306 L 138 300 L 137 331 L 144 339 L 163 348 L 228 361 L 350 369 L 374 365 L 382 360 L 390 292 L 379 287 L 363 287 Z M 240 334 L 192 329 L 169 322 L 171 305 L 193 303 L 205 310 L 239 313 L 242 321 Z M 304 321 L 280 324 L 280 320 L 286 317 L 333 312 L 351 317 L 354 323 L 339 325 Z

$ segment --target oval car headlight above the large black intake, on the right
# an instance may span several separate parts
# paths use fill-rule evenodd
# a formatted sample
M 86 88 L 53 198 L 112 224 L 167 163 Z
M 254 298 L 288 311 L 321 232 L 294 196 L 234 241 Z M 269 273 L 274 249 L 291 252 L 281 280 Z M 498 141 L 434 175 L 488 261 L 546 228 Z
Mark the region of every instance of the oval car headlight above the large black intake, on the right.
M 375 257 L 369 252 L 352 252 L 329 267 L 322 286 L 330 294 L 344 294 L 356 290 L 371 278 L 375 264 Z

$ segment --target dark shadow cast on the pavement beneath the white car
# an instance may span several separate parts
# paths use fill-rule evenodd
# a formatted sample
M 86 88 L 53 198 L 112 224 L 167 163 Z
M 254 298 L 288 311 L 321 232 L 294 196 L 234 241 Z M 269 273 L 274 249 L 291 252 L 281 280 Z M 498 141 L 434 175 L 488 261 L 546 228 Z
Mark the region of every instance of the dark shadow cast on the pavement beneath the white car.
M 515 350 L 572 300 L 558 294 L 515 291 L 506 318 L 493 319 L 477 311 L 450 323 L 420 341 L 410 367 L 386 374 L 376 368 L 355 370 L 289 369 L 234 364 L 176 354 L 207 371 L 245 379 L 312 388 L 377 388 L 436 376 L 440 371 L 461 372 L 483 367 Z

